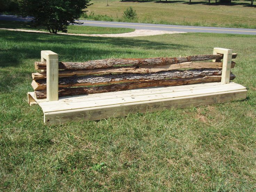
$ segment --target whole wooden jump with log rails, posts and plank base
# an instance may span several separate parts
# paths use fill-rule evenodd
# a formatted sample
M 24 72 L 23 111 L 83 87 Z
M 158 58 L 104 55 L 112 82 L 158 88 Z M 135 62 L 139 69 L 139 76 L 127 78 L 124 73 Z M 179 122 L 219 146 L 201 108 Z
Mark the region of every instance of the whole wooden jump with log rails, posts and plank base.
M 58 54 L 41 51 L 28 102 L 50 125 L 242 100 L 246 88 L 230 83 L 236 56 L 214 48 L 213 55 L 58 62 Z

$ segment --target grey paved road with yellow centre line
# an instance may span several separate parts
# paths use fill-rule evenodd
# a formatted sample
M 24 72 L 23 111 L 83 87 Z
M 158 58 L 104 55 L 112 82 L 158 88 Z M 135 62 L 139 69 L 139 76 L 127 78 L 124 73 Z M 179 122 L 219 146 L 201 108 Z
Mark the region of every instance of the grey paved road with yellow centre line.
M 7 21 L 30 21 L 31 17 L 17 18 L 13 15 L 0 15 L 0 20 Z M 147 29 L 161 31 L 181 31 L 181 32 L 198 32 L 198 33 L 229 33 L 229 34 L 248 34 L 256 35 L 256 29 L 226 28 L 226 27 L 200 27 L 200 26 L 183 26 L 183 25 L 161 25 L 146 23 L 122 23 L 106 21 L 87 21 L 80 20 L 82 25 L 98 27 L 122 27 L 132 29 Z

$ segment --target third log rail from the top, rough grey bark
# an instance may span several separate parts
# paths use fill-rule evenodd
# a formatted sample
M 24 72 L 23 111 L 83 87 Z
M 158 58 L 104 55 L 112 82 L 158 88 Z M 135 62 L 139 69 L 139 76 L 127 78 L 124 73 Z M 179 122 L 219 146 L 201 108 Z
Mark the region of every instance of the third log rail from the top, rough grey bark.
M 59 87 L 75 87 L 75 86 L 90 86 L 90 85 L 105 85 L 117 82 L 131 82 L 131 81 L 153 81 L 173 78 L 193 78 L 203 77 L 211 75 L 219 75 L 222 70 L 219 69 L 193 69 L 193 70 L 173 70 L 163 71 L 157 73 L 146 73 L 146 74 L 107 74 L 107 75 L 87 75 L 81 77 L 64 77 L 59 78 Z M 31 83 L 34 90 L 46 89 L 46 80 L 33 80 Z

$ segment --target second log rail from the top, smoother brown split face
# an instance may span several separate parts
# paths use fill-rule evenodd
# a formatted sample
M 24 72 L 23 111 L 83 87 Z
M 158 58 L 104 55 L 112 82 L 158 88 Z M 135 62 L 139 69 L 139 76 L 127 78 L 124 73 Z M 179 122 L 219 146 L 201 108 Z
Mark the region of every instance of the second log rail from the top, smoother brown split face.
M 232 61 L 231 68 L 234 68 L 235 62 Z M 88 70 L 60 70 L 59 77 L 73 77 L 94 74 L 108 73 L 156 73 L 160 71 L 169 71 L 177 69 L 221 69 L 222 62 L 185 62 L 171 65 L 132 65 L 123 67 L 109 67 L 105 69 Z M 46 79 L 46 72 L 32 73 L 33 80 Z

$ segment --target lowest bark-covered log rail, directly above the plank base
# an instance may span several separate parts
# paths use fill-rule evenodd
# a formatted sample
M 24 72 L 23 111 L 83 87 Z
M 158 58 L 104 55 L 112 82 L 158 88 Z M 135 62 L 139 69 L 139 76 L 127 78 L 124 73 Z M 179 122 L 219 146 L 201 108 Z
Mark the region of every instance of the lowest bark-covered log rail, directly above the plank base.
M 230 80 L 233 80 L 235 75 L 230 75 Z M 206 76 L 203 78 L 189 78 L 189 79 L 169 79 L 169 80 L 156 80 L 144 82 L 129 82 L 129 83 L 115 83 L 106 86 L 98 87 L 79 87 L 79 88 L 60 88 L 59 97 L 73 96 L 73 95 L 86 95 L 94 93 L 106 93 L 113 91 L 122 91 L 137 88 L 156 87 L 156 86 L 178 86 L 188 85 L 194 83 L 218 82 L 221 81 L 219 76 Z M 46 90 L 34 91 L 35 97 L 38 99 L 46 98 Z

